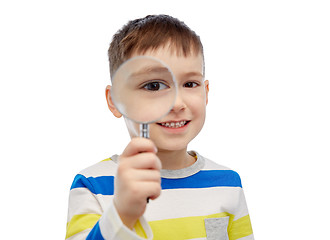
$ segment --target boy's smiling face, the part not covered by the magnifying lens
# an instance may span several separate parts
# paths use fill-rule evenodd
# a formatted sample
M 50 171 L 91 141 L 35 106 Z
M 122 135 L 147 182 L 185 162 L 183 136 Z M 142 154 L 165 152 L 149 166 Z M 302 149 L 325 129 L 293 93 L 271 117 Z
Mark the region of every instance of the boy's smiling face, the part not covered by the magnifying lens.
M 202 55 L 178 56 L 168 47 L 149 50 L 144 55 L 163 61 L 172 70 L 178 85 L 177 99 L 171 111 L 156 123 L 149 124 L 150 139 L 158 151 L 186 149 L 205 121 L 209 84 L 203 77 Z M 128 124 L 131 137 L 137 136 L 138 129 L 138 124 Z

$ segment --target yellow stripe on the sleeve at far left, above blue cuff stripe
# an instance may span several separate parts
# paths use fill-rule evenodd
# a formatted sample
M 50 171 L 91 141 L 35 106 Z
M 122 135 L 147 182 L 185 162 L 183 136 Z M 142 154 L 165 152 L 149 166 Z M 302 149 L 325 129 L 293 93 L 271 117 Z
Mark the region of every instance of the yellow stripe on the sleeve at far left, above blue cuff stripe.
M 80 214 L 74 215 L 66 226 L 65 239 L 84 231 L 88 228 L 93 228 L 97 221 L 100 219 L 99 214 Z

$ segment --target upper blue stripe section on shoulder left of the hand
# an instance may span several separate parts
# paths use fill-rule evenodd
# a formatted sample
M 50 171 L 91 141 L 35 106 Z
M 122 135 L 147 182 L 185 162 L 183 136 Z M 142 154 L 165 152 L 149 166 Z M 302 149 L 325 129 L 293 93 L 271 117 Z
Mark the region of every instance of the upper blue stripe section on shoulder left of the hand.
M 88 188 L 94 194 L 113 195 L 114 193 L 114 177 L 101 176 L 86 178 L 78 174 L 73 180 L 71 189 Z

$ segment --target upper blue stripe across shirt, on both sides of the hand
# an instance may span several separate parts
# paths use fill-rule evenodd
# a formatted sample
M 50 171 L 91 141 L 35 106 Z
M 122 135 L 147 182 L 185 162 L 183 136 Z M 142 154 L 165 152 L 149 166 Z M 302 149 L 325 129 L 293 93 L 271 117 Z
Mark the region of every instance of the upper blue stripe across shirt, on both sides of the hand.
M 186 178 L 162 178 L 161 184 L 162 189 L 242 187 L 238 173 L 232 170 L 204 170 Z M 78 174 L 71 186 L 71 189 L 74 188 L 88 188 L 94 194 L 113 195 L 114 177 L 86 178 Z

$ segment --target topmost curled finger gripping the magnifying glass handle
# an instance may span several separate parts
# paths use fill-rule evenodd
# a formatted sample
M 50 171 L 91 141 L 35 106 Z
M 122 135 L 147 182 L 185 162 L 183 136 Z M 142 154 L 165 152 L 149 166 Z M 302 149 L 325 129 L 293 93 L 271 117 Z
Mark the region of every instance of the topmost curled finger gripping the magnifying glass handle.
M 133 138 L 126 146 L 122 156 L 129 157 L 141 152 L 153 152 L 157 153 L 156 145 L 147 138 Z

